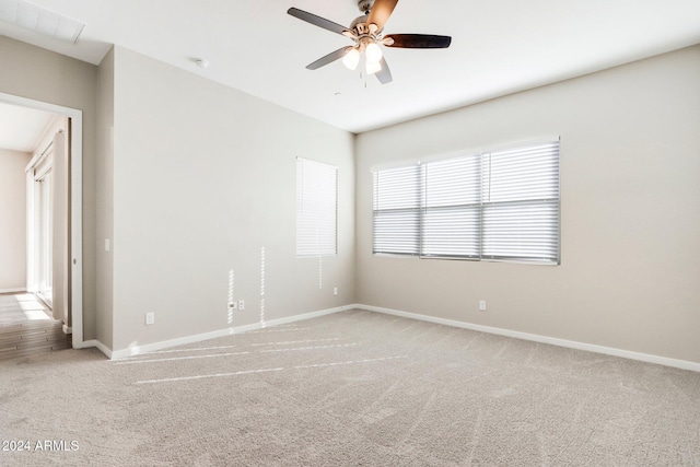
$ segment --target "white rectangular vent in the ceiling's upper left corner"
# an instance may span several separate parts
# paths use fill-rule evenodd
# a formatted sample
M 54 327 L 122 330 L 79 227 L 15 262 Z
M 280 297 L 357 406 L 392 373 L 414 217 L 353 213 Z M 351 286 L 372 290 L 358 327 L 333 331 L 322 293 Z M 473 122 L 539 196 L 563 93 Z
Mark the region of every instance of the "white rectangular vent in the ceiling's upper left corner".
M 71 44 L 78 42 L 85 25 L 21 0 L 0 0 L 0 21 Z

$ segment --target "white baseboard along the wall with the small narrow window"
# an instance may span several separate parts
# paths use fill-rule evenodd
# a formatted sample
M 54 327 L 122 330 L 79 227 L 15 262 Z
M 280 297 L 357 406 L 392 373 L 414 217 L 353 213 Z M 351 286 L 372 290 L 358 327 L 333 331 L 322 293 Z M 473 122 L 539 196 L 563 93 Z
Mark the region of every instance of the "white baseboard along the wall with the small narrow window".
M 264 329 L 272 326 L 285 325 L 290 323 L 295 323 L 304 319 L 315 318 L 317 316 L 329 315 L 331 313 L 345 312 L 347 310 L 353 310 L 357 305 L 346 305 L 338 306 L 336 308 L 322 310 L 318 312 L 305 313 L 303 315 L 289 316 L 285 318 L 272 319 L 269 322 L 262 323 L 254 323 L 250 325 L 244 326 L 235 326 L 225 329 L 220 329 L 211 332 L 198 334 L 194 336 L 180 337 L 177 339 L 164 340 L 161 342 L 147 343 L 143 346 L 135 346 L 128 349 L 115 350 L 113 352 L 105 352 L 105 350 L 100 349 L 103 353 L 109 357 L 112 360 L 126 359 L 128 357 L 140 355 L 142 353 L 154 352 L 156 350 L 163 350 L 175 346 L 184 346 L 186 343 L 196 343 L 201 342 L 202 340 L 215 339 L 218 337 L 231 336 L 234 334 L 246 332 L 250 330 Z M 100 348 L 100 342 L 97 342 L 97 348 Z

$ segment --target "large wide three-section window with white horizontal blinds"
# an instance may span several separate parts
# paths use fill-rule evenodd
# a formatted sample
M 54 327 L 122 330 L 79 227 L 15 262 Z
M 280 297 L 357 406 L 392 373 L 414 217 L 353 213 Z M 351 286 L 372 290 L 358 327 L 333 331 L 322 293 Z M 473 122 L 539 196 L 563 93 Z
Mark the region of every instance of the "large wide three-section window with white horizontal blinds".
M 374 172 L 373 252 L 559 264 L 559 141 Z

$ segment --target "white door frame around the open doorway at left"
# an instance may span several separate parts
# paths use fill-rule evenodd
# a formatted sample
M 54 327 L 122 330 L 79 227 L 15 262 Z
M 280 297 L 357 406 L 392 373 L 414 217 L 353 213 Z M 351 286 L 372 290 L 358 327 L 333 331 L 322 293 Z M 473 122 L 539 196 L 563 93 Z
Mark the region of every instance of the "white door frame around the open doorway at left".
M 0 93 L 0 102 L 68 117 L 70 128 L 70 246 L 71 327 L 73 349 L 84 347 L 83 336 L 83 112 L 77 108 Z

